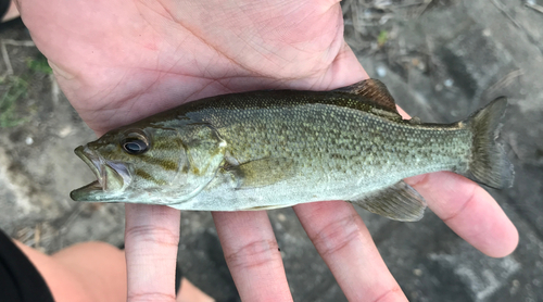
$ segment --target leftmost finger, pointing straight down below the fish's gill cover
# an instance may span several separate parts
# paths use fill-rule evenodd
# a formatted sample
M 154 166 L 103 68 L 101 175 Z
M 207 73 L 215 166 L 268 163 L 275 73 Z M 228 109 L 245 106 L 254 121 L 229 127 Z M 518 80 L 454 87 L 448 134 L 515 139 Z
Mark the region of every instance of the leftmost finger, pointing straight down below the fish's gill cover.
M 128 301 L 175 301 L 179 211 L 128 203 L 125 210 Z

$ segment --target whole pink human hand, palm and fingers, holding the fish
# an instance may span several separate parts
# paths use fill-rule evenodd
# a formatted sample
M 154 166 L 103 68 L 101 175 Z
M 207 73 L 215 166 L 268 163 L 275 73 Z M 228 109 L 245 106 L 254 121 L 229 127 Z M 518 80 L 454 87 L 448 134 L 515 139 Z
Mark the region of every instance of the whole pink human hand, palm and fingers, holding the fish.
M 63 91 L 97 133 L 207 96 L 329 90 L 367 77 L 342 36 L 337 1 L 20 0 L 23 21 Z M 453 230 L 504 256 L 518 235 L 479 186 L 451 173 L 406 180 Z M 349 300 L 405 301 L 344 202 L 294 206 Z M 265 212 L 213 213 L 242 300 L 292 300 Z M 179 212 L 126 205 L 130 301 L 174 301 Z

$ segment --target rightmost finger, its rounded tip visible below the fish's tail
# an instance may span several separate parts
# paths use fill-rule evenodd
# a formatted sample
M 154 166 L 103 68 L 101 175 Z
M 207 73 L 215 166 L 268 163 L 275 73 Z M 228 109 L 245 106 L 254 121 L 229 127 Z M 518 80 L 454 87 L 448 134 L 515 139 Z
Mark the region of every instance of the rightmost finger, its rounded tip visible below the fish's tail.
M 510 254 L 518 231 L 497 202 L 479 185 L 451 172 L 406 178 L 428 206 L 458 236 L 489 256 Z

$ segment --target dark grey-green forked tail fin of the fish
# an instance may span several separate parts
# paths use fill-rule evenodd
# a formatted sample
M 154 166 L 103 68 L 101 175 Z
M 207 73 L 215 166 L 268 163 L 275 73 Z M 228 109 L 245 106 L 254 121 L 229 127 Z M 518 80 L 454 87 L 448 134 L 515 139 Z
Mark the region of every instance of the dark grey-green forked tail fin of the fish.
M 507 99 L 497 98 L 466 121 L 473 131 L 470 178 L 496 189 L 513 186 L 515 176 L 503 146 L 496 141 L 506 106 Z

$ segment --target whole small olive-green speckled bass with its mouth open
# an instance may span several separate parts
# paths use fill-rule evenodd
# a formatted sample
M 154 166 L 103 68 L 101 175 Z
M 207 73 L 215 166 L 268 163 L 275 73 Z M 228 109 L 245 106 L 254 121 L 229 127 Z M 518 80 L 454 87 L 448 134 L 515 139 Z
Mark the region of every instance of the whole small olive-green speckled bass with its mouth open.
M 261 90 L 205 98 L 113 129 L 75 153 L 96 181 L 75 201 L 255 211 L 346 201 L 416 222 L 425 199 L 403 179 L 451 171 L 513 186 L 498 139 L 507 99 L 464 121 L 404 119 L 378 79 L 329 91 Z

